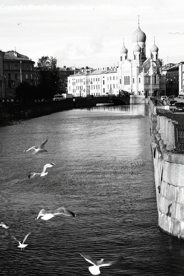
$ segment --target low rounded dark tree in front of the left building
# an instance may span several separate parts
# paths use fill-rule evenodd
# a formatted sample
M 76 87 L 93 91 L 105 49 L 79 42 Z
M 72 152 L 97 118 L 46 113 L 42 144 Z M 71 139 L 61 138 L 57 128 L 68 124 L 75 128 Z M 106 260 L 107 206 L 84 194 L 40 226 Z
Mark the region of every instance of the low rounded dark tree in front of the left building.
M 23 102 L 38 99 L 37 87 L 31 86 L 28 82 L 21 82 L 15 89 L 16 98 Z

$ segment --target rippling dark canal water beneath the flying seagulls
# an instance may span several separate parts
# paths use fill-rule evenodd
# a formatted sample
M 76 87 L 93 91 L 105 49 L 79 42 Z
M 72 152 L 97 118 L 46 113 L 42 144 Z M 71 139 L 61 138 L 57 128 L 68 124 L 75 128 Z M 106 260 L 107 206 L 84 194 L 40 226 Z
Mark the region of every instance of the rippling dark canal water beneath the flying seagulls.
M 24 150 L 46 144 L 48 152 Z M 148 105 L 97 106 L 0 128 L 0 275 L 91 275 L 80 254 L 114 260 L 103 276 L 183 275 L 184 242 L 158 228 Z M 40 173 L 46 163 L 45 177 Z M 64 206 L 76 218 L 35 221 Z M 26 240 L 25 250 L 13 236 Z

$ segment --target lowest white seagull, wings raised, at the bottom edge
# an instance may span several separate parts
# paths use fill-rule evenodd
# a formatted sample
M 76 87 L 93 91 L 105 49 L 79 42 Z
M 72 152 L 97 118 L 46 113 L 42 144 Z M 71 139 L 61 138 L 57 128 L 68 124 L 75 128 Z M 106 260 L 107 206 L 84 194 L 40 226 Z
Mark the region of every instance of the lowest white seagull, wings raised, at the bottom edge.
M 108 261 L 105 261 L 104 259 L 101 259 L 100 261 L 97 261 L 93 258 L 91 258 L 90 256 L 84 254 L 84 253 L 80 253 L 79 254 L 89 263 L 92 263 L 93 266 L 89 266 L 89 270 L 91 272 L 91 274 L 93 275 L 98 275 L 100 274 L 100 269 L 99 267 L 101 266 L 110 266 L 112 265 L 113 263 L 115 263 L 114 261 L 111 261 L 111 262 L 108 262 Z

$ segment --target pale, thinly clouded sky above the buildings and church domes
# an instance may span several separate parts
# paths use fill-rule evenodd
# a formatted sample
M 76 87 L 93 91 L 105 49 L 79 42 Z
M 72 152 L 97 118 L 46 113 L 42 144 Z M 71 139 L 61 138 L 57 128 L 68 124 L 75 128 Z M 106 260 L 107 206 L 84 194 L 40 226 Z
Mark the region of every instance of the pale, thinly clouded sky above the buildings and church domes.
M 146 57 L 155 36 L 164 64 L 184 61 L 184 34 L 178 34 L 184 33 L 182 0 L 2 0 L 0 49 L 16 49 L 35 66 L 42 56 L 56 57 L 60 67 L 118 66 L 123 38 L 133 57 L 138 15 Z

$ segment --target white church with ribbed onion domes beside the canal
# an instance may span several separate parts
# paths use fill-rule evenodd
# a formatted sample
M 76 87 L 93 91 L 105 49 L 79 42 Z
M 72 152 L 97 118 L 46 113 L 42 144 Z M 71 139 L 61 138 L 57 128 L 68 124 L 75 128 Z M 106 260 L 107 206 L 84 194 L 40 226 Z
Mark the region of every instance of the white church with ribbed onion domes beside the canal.
M 158 47 L 155 45 L 149 49 L 146 57 L 146 35 L 140 29 L 132 35 L 131 57 L 124 45 L 120 49 L 118 62 L 119 90 L 142 96 L 156 96 L 165 94 L 165 75 L 159 64 Z

